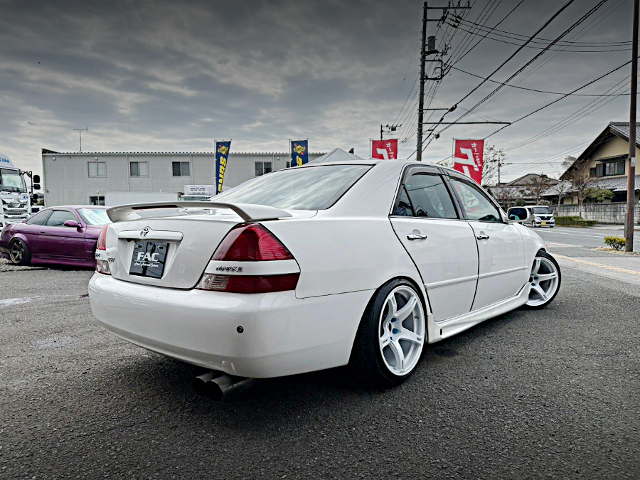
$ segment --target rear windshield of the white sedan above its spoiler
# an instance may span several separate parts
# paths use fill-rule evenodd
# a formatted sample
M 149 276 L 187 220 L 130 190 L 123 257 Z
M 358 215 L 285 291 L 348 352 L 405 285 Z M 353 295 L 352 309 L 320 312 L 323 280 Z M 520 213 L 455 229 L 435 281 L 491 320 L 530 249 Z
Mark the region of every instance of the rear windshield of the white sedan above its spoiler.
M 323 165 L 281 170 L 221 193 L 215 201 L 293 210 L 325 210 L 370 168 L 371 165 Z

